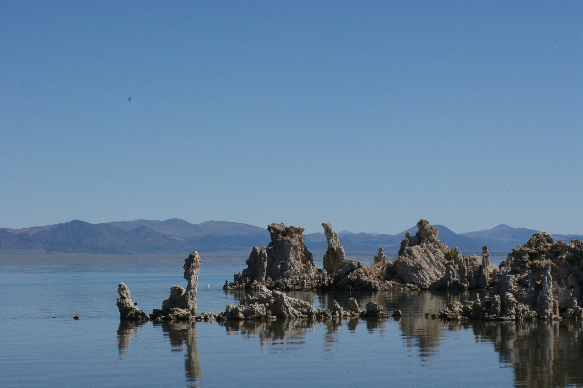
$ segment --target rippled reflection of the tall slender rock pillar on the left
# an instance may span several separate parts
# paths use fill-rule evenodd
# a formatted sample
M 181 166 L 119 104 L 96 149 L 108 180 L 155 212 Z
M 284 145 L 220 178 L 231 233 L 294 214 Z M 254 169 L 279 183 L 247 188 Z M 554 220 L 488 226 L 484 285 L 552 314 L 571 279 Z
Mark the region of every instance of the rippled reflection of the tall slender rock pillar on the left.
M 174 348 L 184 348 L 184 373 L 190 387 L 199 387 L 201 380 L 201 363 L 198 359 L 198 347 L 196 346 L 196 322 L 195 321 L 162 321 L 153 323 L 161 325 L 164 336 L 170 339 Z

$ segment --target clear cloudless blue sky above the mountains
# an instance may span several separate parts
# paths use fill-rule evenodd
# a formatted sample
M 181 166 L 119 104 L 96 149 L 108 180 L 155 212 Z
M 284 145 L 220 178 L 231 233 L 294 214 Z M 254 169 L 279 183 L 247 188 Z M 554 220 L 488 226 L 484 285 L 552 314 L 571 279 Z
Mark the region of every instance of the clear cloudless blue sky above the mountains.
M 2 1 L 0 227 L 583 234 L 582 27 L 581 1 Z

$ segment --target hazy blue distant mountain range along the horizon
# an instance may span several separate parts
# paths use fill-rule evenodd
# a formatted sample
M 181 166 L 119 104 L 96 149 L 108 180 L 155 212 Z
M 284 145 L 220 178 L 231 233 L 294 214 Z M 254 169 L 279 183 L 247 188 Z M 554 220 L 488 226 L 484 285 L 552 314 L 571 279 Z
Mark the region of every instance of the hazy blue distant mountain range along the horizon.
M 504 254 L 522 245 L 536 230 L 512 228 L 505 224 L 462 234 L 455 234 L 443 225 L 439 238 L 450 248 L 458 246 L 464 254 L 481 253 L 488 245 L 490 253 Z M 415 235 L 417 227 L 395 235 L 339 232 L 340 243 L 347 255 L 374 255 L 382 247 L 388 256 L 395 256 L 405 232 Z M 556 240 L 583 239 L 583 235 L 553 235 Z M 140 253 L 140 252 L 217 252 L 251 251 L 253 246 L 268 245 L 268 230 L 253 225 L 229 221 L 206 221 L 191 224 L 172 218 L 166 221 L 135 220 L 89 224 L 73 220 L 68 223 L 41 227 L 0 228 L 0 250 L 44 249 L 47 252 L 69 253 Z M 328 248 L 324 233 L 305 235 L 308 250 L 317 255 Z

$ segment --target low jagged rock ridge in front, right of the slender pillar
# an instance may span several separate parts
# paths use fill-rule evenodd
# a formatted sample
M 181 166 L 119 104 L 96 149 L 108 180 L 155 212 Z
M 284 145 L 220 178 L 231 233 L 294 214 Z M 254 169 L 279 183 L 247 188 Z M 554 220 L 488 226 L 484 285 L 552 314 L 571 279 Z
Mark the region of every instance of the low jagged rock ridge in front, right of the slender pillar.
M 359 316 L 378 318 L 387 316 L 382 312 L 384 307 L 375 302 L 368 302 L 367 309 L 363 312 L 359 308 L 356 299 L 351 298 L 348 307 L 349 309 L 345 311 L 335 301 L 332 310 L 320 310 L 301 299 L 287 296 L 285 292 L 268 290 L 268 288 L 262 287 L 258 297 L 247 295 L 247 297 L 241 298 L 237 306 L 227 305 L 219 319 L 348 319 Z

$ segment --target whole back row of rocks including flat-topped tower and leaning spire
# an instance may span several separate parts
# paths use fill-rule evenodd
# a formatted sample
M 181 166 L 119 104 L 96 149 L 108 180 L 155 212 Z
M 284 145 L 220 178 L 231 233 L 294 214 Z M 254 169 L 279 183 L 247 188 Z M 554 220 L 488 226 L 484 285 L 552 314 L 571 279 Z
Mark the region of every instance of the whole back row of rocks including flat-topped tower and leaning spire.
M 395 262 L 378 249 L 371 266 L 347 259 L 338 234 L 323 223 L 328 240 L 324 268 L 318 269 L 304 245 L 303 228 L 271 224 L 271 244 L 253 248 L 247 268 L 225 281 L 224 289 L 270 290 L 419 290 L 420 288 L 486 288 L 497 271 L 487 247 L 482 258 L 463 256 L 438 238 L 438 228 L 426 220 L 417 223 L 415 236 L 406 233 Z

